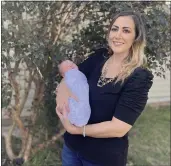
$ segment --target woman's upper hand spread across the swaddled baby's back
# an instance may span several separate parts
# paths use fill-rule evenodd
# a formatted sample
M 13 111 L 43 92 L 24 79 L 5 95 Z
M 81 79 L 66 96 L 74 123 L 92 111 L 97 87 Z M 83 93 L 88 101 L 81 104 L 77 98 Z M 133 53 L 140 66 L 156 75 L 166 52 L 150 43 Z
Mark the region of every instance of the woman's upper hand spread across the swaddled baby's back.
M 71 93 L 69 88 L 66 86 L 64 80 L 62 80 L 61 83 L 56 88 L 56 103 L 57 103 L 57 110 L 59 112 L 61 113 L 63 112 L 64 106 L 67 112 L 69 112 L 69 105 L 68 105 L 69 97 L 78 101 L 77 97 Z

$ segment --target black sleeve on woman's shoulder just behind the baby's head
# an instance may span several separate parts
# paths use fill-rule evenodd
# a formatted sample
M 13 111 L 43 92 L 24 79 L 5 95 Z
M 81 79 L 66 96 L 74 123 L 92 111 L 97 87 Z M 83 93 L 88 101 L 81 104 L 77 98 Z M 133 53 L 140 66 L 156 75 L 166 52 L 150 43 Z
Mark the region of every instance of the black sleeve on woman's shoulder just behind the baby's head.
M 81 62 L 78 65 L 79 70 L 83 72 L 88 79 L 91 72 L 95 69 L 96 65 L 102 62 L 102 60 L 104 60 L 106 55 L 107 55 L 106 48 L 100 48 L 98 50 L 95 50 L 83 62 Z

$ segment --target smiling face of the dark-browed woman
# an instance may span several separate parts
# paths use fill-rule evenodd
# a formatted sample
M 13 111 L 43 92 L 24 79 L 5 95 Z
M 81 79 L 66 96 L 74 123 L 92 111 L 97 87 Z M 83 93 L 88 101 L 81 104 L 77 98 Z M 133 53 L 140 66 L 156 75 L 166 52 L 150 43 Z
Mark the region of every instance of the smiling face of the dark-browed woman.
M 135 24 L 130 16 L 120 16 L 113 23 L 108 42 L 115 54 L 127 54 L 135 40 Z

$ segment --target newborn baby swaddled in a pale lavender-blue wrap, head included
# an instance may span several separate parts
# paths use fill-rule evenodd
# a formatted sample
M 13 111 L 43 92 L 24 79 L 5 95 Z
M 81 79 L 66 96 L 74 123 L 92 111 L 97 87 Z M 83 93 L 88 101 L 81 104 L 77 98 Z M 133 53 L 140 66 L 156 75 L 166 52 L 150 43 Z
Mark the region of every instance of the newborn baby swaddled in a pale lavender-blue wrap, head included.
M 70 60 L 63 61 L 59 65 L 59 71 L 64 77 L 66 85 L 79 100 L 69 98 L 68 119 L 75 126 L 82 127 L 87 124 L 91 114 L 87 78 Z

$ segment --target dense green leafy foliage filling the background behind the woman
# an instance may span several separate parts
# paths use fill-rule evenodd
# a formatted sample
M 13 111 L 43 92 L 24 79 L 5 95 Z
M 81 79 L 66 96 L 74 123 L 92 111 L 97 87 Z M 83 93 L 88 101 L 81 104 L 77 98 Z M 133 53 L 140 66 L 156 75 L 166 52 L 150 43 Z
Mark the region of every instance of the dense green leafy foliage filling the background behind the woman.
M 113 15 L 130 9 L 140 12 L 145 22 L 148 66 L 164 77 L 170 69 L 170 14 L 164 2 L 2 2 L 3 107 L 8 108 L 16 95 L 9 74 L 17 78 L 21 69 L 12 66 L 26 64 L 32 81 L 43 87 L 33 133 L 48 131 L 46 139 L 59 133 L 54 93 L 61 79 L 58 63 L 69 58 L 78 64 L 92 50 L 107 47 L 106 32 Z

